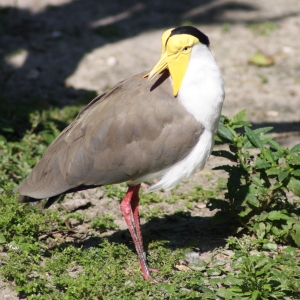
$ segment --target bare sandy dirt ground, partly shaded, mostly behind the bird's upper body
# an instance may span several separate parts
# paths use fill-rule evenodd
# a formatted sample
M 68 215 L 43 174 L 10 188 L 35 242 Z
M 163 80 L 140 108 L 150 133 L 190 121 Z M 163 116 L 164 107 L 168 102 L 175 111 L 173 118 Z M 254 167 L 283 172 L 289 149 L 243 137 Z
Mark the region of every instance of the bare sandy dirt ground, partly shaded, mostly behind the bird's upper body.
M 100 93 L 152 68 L 164 30 L 191 24 L 209 36 L 223 72 L 223 114 L 247 108 L 248 120 L 273 126 L 280 143 L 300 142 L 299 0 L 0 0 L 0 9 L 0 87 L 12 101 L 43 95 L 62 107 L 82 90 Z M 274 65 L 249 65 L 258 51 Z M 192 184 L 211 186 L 222 176 L 210 171 L 218 164 L 212 157 Z M 117 203 L 87 193 L 95 204 L 88 213 L 107 211 L 125 228 Z M 0 281 L 0 298 L 18 296 Z

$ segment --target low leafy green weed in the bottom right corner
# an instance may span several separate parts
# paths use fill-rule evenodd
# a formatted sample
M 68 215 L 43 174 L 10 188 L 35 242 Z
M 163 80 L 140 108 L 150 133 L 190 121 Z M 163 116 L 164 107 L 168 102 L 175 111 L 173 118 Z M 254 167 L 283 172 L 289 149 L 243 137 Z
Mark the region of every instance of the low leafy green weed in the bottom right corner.
M 281 253 L 258 252 L 256 240 L 248 237 L 230 238 L 227 246 L 238 250 L 231 263 L 233 272 L 220 281 L 226 289 L 220 289 L 218 295 L 226 295 L 225 299 L 283 299 L 286 295 L 299 295 L 299 285 L 294 285 L 300 270 L 295 248 L 284 248 Z

